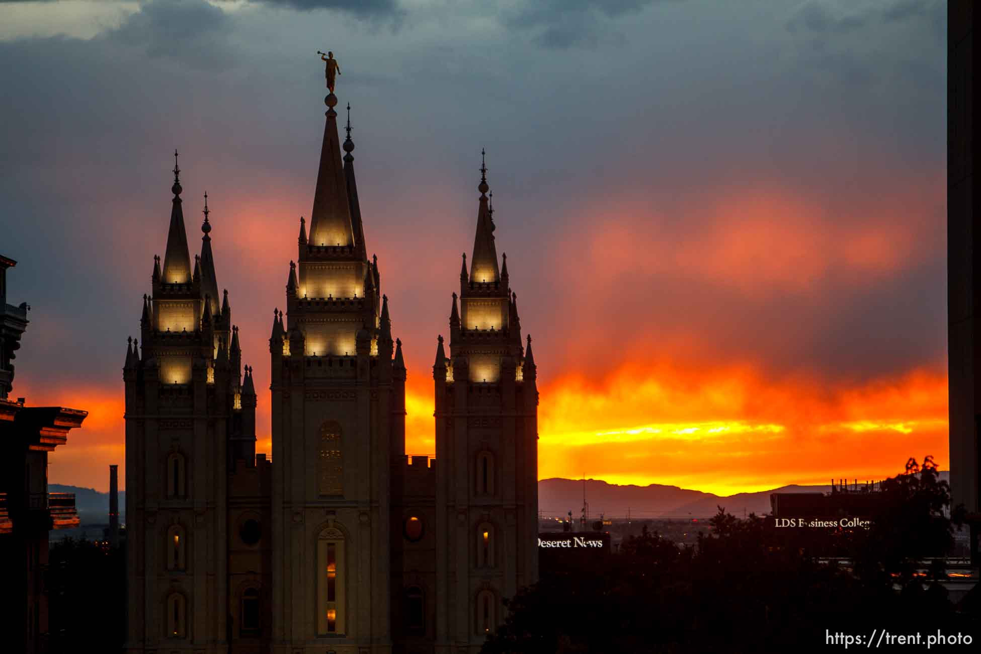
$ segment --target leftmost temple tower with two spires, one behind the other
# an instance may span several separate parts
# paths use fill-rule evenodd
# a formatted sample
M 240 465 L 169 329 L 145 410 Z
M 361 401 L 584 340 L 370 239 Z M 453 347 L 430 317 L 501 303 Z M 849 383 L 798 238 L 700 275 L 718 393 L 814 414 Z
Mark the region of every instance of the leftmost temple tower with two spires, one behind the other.
M 130 339 L 126 385 L 129 578 L 127 651 L 226 652 L 232 634 L 228 484 L 232 453 L 255 441 L 251 377 L 241 378 L 228 291 L 218 299 L 211 223 L 193 266 L 175 152 L 161 267 L 143 296 L 142 347 Z

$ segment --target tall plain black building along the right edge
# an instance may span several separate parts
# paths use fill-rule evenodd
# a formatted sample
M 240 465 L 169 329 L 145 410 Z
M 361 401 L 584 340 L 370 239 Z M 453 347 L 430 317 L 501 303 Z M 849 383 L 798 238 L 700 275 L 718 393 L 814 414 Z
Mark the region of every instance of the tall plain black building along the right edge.
M 981 541 L 981 185 L 974 136 L 981 8 L 952 0 L 947 11 L 947 292 L 951 494 L 967 509 L 971 556 Z

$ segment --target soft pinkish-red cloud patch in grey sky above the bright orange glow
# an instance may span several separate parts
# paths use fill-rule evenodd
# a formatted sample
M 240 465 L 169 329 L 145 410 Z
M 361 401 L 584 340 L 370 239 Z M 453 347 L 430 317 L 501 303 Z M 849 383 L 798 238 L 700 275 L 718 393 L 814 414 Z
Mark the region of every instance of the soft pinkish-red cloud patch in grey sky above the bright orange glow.
M 924 186 L 935 185 L 921 181 L 915 192 L 872 206 L 856 198 L 841 215 L 826 199 L 765 184 L 696 199 L 678 215 L 665 215 L 650 198 L 604 200 L 586 212 L 591 265 L 573 275 L 595 289 L 622 274 L 693 277 L 750 296 L 813 291 L 836 274 L 863 284 L 934 254 L 939 241 L 922 217 L 942 192 Z M 561 257 L 570 254 L 563 249 Z

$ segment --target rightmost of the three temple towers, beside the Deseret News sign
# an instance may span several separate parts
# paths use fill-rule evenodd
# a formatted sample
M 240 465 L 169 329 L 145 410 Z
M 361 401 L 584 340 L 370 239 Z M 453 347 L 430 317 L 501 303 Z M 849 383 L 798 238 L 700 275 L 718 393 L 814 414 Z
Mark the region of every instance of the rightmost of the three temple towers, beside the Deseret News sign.
M 483 154 L 483 153 L 482 153 Z M 507 255 L 498 267 L 481 166 L 470 270 L 439 336 L 436 382 L 437 651 L 478 651 L 502 598 L 538 579 L 538 401 L 531 336 L 522 347 Z

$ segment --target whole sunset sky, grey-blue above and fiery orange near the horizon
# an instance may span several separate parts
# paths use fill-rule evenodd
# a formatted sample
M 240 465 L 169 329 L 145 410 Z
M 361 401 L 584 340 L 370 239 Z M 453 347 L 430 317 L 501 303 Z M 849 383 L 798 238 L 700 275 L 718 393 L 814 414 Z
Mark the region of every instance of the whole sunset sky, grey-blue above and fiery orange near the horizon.
M 269 439 L 273 309 L 340 63 L 409 452 L 488 151 L 539 369 L 540 478 L 729 494 L 948 469 L 946 3 L 0 2 L 14 397 L 89 411 L 51 482 L 124 463 L 126 338 L 173 152 Z M 343 114 L 341 114 L 343 116 Z M 121 475 L 121 478 L 123 476 Z

